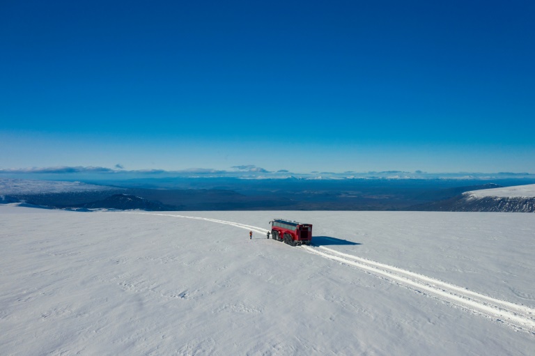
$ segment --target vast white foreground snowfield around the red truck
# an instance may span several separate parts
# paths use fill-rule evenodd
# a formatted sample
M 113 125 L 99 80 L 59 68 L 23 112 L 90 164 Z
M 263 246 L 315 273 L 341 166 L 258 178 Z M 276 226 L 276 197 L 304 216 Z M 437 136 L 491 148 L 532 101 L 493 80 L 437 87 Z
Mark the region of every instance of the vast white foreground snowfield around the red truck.
M 267 240 L 273 217 L 313 246 Z M 0 350 L 534 355 L 534 235 L 525 213 L 0 206 Z

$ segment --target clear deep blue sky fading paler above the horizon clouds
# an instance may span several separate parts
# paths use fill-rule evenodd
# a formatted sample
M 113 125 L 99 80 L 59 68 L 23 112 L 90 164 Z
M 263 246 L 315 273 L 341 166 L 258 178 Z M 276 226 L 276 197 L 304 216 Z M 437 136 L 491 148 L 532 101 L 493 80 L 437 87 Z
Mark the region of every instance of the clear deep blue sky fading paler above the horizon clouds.
M 0 169 L 535 173 L 535 1 L 2 1 Z

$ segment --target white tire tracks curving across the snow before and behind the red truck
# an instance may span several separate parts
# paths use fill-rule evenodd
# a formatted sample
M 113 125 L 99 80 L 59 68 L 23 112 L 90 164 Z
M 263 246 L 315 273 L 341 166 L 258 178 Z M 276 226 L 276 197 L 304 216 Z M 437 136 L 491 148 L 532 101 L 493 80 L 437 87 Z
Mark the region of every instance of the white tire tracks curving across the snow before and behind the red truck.
M 267 233 L 269 231 L 258 226 L 240 224 L 237 222 L 227 222 L 225 220 L 211 219 L 208 217 L 190 217 L 185 215 L 161 214 L 153 212 L 123 213 L 204 220 L 207 222 L 215 222 L 217 224 L 231 225 L 240 229 L 256 231 L 257 233 Z M 412 291 L 424 294 L 427 293 L 428 295 L 431 295 L 442 302 L 448 302 L 456 307 L 471 311 L 472 313 L 481 314 L 488 318 L 498 320 L 517 330 L 527 331 L 531 334 L 535 334 L 535 309 L 507 302 L 505 300 L 498 300 L 487 295 L 469 291 L 466 288 L 462 288 L 454 284 L 449 284 L 438 279 L 426 277 L 423 274 L 417 274 L 391 265 L 386 265 L 385 263 L 379 263 L 366 258 L 353 256 L 351 254 L 345 254 L 334 249 L 329 249 L 328 247 L 300 246 L 296 248 L 304 249 L 311 254 L 316 254 L 345 265 L 350 265 L 351 267 L 359 268 L 389 281 L 393 281 L 398 285 L 405 286 Z

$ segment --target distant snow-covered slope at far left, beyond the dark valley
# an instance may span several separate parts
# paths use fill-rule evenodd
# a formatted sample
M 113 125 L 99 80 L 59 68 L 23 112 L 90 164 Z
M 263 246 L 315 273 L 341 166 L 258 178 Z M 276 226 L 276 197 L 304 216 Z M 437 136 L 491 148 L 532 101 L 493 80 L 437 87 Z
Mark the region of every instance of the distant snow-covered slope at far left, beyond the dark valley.
M 81 182 L 61 182 L 56 180 L 0 179 L 0 194 L 43 194 L 63 192 L 95 192 L 120 189 L 104 185 Z

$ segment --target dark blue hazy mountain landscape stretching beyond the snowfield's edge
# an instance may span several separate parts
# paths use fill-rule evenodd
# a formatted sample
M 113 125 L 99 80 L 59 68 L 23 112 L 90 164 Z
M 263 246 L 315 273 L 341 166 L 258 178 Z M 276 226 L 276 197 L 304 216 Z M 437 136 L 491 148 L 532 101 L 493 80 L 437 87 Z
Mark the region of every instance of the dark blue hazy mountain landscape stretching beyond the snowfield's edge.
M 69 210 L 412 210 L 535 212 L 531 185 L 437 187 L 429 181 L 269 182 L 211 189 L 147 189 L 79 182 L 1 180 L 0 203 Z M 441 185 L 442 181 L 439 182 Z M 266 185 L 272 184 L 272 185 Z M 533 185 L 535 187 L 535 185 Z M 525 188 L 527 187 L 527 188 Z M 240 189 L 240 192 L 229 189 Z M 478 192 L 477 194 L 474 192 Z M 485 193 L 483 193 L 485 192 Z M 494 194 L 494 195 L 493 195 Z

